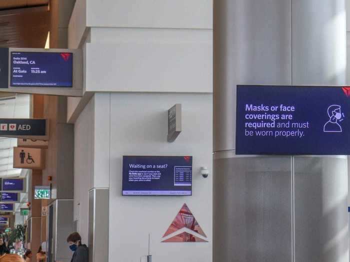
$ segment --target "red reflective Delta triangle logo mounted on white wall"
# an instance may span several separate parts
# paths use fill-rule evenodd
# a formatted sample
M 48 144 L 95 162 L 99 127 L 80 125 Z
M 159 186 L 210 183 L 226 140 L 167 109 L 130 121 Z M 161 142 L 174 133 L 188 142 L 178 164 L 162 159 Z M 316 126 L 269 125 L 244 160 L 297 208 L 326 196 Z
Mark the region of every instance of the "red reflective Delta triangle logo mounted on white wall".
M 206 235 L 186 204 L 166 230 L 162 242 L 207 242 Z

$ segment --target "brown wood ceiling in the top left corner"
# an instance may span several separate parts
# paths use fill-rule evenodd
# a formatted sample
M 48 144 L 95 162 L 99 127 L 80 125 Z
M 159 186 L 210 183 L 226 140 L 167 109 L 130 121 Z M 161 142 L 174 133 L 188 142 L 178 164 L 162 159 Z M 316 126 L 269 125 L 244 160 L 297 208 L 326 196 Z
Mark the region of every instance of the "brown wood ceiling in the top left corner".
M 49 23 L 48 0 L 0 0 L 0 47 L 43 48 Z

